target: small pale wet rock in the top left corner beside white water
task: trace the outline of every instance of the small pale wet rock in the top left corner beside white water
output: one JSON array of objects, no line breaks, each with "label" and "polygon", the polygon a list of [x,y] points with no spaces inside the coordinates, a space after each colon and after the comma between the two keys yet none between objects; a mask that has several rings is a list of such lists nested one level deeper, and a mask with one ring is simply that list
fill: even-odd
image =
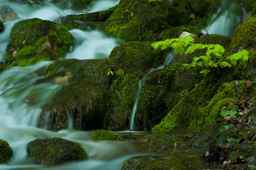
[{"label": "small pale wet rock in the top left corner beside white water", "polygon": [[9,6],[1,6],[0,7],[0,21],[8,22],[18,19],[18,15],[12,8]]}]

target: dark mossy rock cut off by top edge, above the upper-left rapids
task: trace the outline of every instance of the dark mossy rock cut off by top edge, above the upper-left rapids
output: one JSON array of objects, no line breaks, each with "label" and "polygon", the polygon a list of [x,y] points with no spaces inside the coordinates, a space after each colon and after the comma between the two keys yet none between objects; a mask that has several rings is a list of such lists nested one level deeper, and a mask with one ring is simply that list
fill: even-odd
[{"label": "dark mossy rock cut off by top edge, above the upper-left rapids", "polygon": [[61,0],[53,0],[51,1],[52,4],[55,6],[67,9],[72,8],[74,11],[84,10],[90,8],[92,4],[94,4],[94,0],[68,0],[68,1],[61,1]]}]

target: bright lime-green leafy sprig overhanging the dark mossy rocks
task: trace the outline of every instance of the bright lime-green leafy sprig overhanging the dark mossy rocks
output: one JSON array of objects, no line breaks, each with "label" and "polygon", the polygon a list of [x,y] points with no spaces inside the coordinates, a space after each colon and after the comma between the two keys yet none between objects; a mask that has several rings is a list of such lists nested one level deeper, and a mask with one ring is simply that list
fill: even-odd
[{"label": "bright lime-green leafy sprig overhanging the dark mossy rocks", "polygon": [[[189,46],[189,47],[188,47]],[[187,55],[189,53],[193,53],[195,50],[204,49],[206,48],[206,54],[201,55],[199,57],[194,57],[193,62],[190,64],[183,64],[183,66],[190,68],[190,67],[206,67],[207,69],[202,70],[201,74],[208,74],[208,72],[211,72],[211,68],[214,67],[232,67],[235,66],[238,61],[241,63],[245,63],[248,60],[248,54],[249,52],[247,50],[242,50],[240,52],[237,52],[231,56],[228,56],[225,58],[225,60],[221,60],[223,53],[225,52],[225,49],[218,44],[195,44],[194,38],[191,38],[190,36],[187,36],[184,38],[184,40],[173,38],[173,39],[167,39],[165,41],[159,41],[152,43],[152,47],[155,49],[161,48],[161,50],[165,50],[169,47],[172,47],[174,49],[175,55]],[[185,51],[185,47],[187,47],[187,50]],[[214,57],[214,60],[212,60],[212,57]]]}]

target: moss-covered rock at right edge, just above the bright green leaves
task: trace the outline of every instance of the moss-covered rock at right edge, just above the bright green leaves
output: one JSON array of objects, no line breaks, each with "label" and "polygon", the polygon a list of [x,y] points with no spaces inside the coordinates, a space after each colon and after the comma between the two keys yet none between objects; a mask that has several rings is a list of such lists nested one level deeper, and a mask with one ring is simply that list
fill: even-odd
[{"label": "moss-covered rock at right edge, just above the bright green leaves", "polygon": [[256,50],[256,16],[242,23],[232,35],[232,40],[224,55],[233,55],[241,50]]}]

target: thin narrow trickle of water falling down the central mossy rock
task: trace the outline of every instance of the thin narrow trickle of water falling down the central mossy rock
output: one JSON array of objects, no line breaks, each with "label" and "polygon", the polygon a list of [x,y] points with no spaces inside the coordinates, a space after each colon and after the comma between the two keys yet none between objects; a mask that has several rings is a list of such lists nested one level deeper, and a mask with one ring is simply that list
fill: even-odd
[{"label": "thin narrow trickle of water falling down the central mossy rock", "polygon": [[145,77],[148,77],[148,75],[150,75],[152,72],[155,72],[155,71],[158,71],[160,69],[164,69],[166,65],[169,64],[169,62],[172,61],[174,57],[174,52],[169,52],[169,54],[167,55],[167,57],[165,58],[165,62],[164,64],[160,65],[159,67],[157,68],[152,68],[150,69],[150,71],[148,71],[145,76],[143,77],[143,79],[140,79],[139,81],[139,84],[138,84],[138,87],[137,87],[137,90],[136,90],[136,95],[135,95],[135,102],[134,102],[134,105],[133,105],[133,109],[132,109],[132,114],[131,114],[131,117],[130,117],[130,130],[134,130],[135,127],[134,127],[134,120],[135,120],[135,113],[136,113],[136,110],[137,110],[137,104],[138,104],[138,99],[140,97],[140,91],[141,91],[141,87],[143,86],[143,83],[145,81]]}]

